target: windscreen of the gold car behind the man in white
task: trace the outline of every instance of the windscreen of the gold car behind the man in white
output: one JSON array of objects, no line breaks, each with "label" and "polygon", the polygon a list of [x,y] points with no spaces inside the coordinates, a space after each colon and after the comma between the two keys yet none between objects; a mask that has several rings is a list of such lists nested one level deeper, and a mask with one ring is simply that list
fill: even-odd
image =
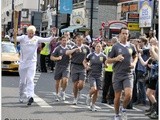
[{"label": "windscreen of the gold car behind the man in white", "polygon": [[17,53],[16,48],[13,44],[2,44],[3,53]]}]

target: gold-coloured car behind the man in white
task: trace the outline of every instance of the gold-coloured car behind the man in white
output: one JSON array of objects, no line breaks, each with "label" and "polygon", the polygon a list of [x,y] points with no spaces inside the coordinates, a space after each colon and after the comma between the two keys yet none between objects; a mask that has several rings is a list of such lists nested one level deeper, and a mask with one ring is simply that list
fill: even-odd
[{"label": "gold-coloured car behind the man in white", "polygon": [[11,42],[1,42],[1,68],[2,72],[18,72],[19,53]]}]

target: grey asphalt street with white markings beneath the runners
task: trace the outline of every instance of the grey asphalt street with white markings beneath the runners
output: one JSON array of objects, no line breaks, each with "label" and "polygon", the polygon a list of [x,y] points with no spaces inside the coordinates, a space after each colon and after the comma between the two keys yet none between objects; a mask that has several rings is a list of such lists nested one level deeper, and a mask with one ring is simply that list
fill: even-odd
[{"label": "grey asphalt street with white markings beneath the runners", "polygon": [[[53,73],[36,73],[35,98],[31,106],[26,102],[19,103],[19,76],[2,76],[2,120],[112,120],[114,114],[113,105],[101,103],[101,92],[97,100],[98,111],[92,112],[85,104],[89,84],[86,83],[81,91],[77,105],[72,105],[72,83],[69,81],[66,90],[66,101],[56,102],[55,81]],[[148,107],[134,106],[128,111],[128,120],[149,120],[144,115]]]}]

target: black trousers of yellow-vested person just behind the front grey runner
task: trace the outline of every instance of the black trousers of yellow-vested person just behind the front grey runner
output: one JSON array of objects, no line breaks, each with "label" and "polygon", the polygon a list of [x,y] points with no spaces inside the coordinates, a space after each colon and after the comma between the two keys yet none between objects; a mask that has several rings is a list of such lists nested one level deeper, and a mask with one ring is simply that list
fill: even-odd
[{"label": "black trousers of yellow-vested person just behind the front grey runner", "polygon": [[114,100],[114,90],[112,85],[112,72],[105,71],[103,81],[103,100]]}]

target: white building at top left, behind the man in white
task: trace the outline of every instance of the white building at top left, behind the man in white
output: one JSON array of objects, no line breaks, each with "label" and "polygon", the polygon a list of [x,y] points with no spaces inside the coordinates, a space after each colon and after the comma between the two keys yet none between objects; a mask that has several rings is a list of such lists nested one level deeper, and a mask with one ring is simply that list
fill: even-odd
[{"label": "white building at top left, behind the man in white", "polygon": [[[20,27],[30,25],[31,23],[31,11],[38,11],[42,0],[2,0],[1,1],[1,27],[4,34],[8,24],[12,23],[12,5],[14,3],[14,10],[21,11]],[[11,28],[8,28],[11,29]]]}]

